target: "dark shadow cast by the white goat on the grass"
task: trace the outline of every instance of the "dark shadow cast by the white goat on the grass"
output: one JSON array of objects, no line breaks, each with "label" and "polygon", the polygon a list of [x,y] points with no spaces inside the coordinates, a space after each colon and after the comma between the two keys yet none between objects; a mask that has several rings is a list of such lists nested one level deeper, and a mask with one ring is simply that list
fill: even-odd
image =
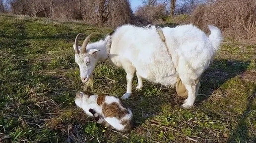
[{"label": "dark shadow cast by the white goat on the grass", "polygon": [[[214,61],[202,75],[201,88],[199,89],[199,95],[195,104],[201,104],[203,101],[206,101],[219,86],[235,76],[243,74],[249,64],[250,62],[243,61]],[[126,73],[123,72],[124,70],[122,70],[122,78],[119,79],[119,82],[124,86],[121,90],[125,93]],[[133,77],[133,81],[137,82],[136,76]],[[136,124],[137,126],[144,123],[149,117],[162,112],[163,106],[181,106],[185,100],[177,96],[175,89],[163,87],[160,84],[153,84],[146,80],[143,81],[143,86],[140,91],[135,90],[133,87],[131,97],[125,100],[133,112],[134,120],[139,123]]]}]

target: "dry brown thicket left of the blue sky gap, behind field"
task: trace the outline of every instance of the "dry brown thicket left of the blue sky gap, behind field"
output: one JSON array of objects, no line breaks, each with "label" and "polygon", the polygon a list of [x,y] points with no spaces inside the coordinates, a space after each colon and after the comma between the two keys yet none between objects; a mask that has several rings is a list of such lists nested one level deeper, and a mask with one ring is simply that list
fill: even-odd
[{"label": "dry brown thicket left of the blue sky gap, behind field", "polygon": [[[51,2],[53,8],[49,8]],[[13,14],[45,18],[53,15],[54,20],[82,20],[93,25],[119,26],[129,23],[132,15],[128,0],[13,0],[11,3]]]}]

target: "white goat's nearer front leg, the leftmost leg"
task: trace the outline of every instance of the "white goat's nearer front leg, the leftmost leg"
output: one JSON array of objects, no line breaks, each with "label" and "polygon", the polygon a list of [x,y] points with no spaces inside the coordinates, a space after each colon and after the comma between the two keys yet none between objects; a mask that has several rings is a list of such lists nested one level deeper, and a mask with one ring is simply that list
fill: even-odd
[{"label": "white goat's nearer front leg, the leftmost leg", "polygon": [[127,80],[127,91],[126,93],[121,97],[122,99],[128,99],[131,95],[131,87],[132,87],[132,78],[133,78],[133,74],[134,74],[134,67],[130,66],[126,66],[124,67],[124,69],[126,70],[126,80]]}]

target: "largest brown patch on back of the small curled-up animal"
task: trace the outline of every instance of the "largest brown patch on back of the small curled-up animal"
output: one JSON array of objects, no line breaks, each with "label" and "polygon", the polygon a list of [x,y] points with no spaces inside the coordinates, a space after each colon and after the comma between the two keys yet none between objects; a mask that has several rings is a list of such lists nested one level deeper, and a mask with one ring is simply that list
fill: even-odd
[{"label": "largest brown patch on back of the small curled-up animal", "polygon": [[103,114],[106,117],[116,117],[122,119],[126,114],[129,113],[128,109],[123,109],[116,102],[111,104],[104,103],[102,106]]}]

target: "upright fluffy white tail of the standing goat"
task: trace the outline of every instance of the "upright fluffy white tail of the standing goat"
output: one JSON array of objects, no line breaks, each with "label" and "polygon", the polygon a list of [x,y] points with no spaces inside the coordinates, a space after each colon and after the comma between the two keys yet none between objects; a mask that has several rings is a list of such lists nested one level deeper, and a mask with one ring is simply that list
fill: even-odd
[{"label": "upright fluffy white tail of the standing goat", "polygon": [[215,51],[217,51],[219,49],[219,46],[223,40],[223,36],[221,34],[220,29],[218,29],[217,27],[213,26],[213,25],[208,25],[210,31],[211,31],[211,35],[209,36],[210,42],[213,46],[213,48],[215,49]]}]

